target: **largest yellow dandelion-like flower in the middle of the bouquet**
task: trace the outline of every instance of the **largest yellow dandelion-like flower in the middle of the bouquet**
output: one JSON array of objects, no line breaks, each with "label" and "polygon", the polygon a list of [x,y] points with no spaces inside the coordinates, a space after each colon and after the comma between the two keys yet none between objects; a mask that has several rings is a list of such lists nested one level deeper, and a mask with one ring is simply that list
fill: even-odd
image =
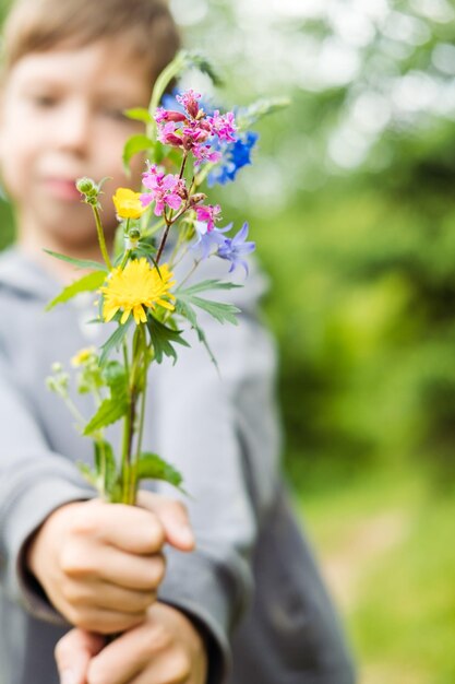
[{"label": "largest yellow dandelion-like flower in the middle of the bouquet", "polygon": [[123,311],[121,323],[125,323],[132,314],[139,326],[146,322],[147,308],[155,309],[159,305],[172,311],[175,307],[169,302],[176,298],[169,292],[176,284],[172,278],[167,263],[159,267],[158,273],[144,257],[129,261],[124,269],[112,269],[106,285],[100,288],[104,294],[103,318],[109,321],[117,311]]}]

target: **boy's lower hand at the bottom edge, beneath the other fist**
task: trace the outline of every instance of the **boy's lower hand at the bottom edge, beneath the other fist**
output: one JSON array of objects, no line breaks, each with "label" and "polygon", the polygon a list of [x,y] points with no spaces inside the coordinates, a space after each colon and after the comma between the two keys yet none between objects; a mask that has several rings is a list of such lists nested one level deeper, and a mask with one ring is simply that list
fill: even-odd
[{"label": "boy's lower hand at the bottom edge, beneath the other fist", "polygon": [[56,648],[61,684],[204,684],[204,641],[180,611],[155,603],[147,620],[104,647],[95,634],[72,629]]}]

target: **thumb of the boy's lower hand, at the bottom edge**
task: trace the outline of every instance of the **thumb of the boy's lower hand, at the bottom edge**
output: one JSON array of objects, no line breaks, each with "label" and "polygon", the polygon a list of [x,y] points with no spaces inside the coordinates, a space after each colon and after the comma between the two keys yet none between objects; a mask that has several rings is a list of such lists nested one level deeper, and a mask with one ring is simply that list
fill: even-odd
[{"label": "thumb of the boy's lower hand, at the bottom edge", "polygon": [[105,638],[92,632],[71,629],[55,650],[60,684],[86,684],[88,665],[105,646]]}]

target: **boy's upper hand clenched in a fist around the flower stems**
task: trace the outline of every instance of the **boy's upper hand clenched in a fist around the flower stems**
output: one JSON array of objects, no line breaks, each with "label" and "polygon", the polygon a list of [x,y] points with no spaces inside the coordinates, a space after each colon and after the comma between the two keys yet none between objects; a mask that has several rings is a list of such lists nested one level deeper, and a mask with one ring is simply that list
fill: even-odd
[{"label": "boy's upper hand clenched in a fist around the flower stems", "polygon": [[139,625],[165,574],[165,541],[192,550],[181,504],[148,492],[139,504],[67,504],[33,539],[28,568],[71,624],[100,634]]}]

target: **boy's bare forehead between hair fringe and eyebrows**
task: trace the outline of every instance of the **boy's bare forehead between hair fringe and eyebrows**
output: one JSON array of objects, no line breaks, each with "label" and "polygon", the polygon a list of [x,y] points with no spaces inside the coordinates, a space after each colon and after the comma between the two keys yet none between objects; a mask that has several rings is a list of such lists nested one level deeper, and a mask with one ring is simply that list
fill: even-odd
[{"label": "boy's bare forehead between hair fringe and eyebrows", "polygon": [[10,74],[24,85],[48,83],[84,85],[87,90],[116,93],[122,91],[140,98],[148,97],[148,70],[134,50],[120,39],[105,39],[86,46],[59,45],[21,58]]}]

